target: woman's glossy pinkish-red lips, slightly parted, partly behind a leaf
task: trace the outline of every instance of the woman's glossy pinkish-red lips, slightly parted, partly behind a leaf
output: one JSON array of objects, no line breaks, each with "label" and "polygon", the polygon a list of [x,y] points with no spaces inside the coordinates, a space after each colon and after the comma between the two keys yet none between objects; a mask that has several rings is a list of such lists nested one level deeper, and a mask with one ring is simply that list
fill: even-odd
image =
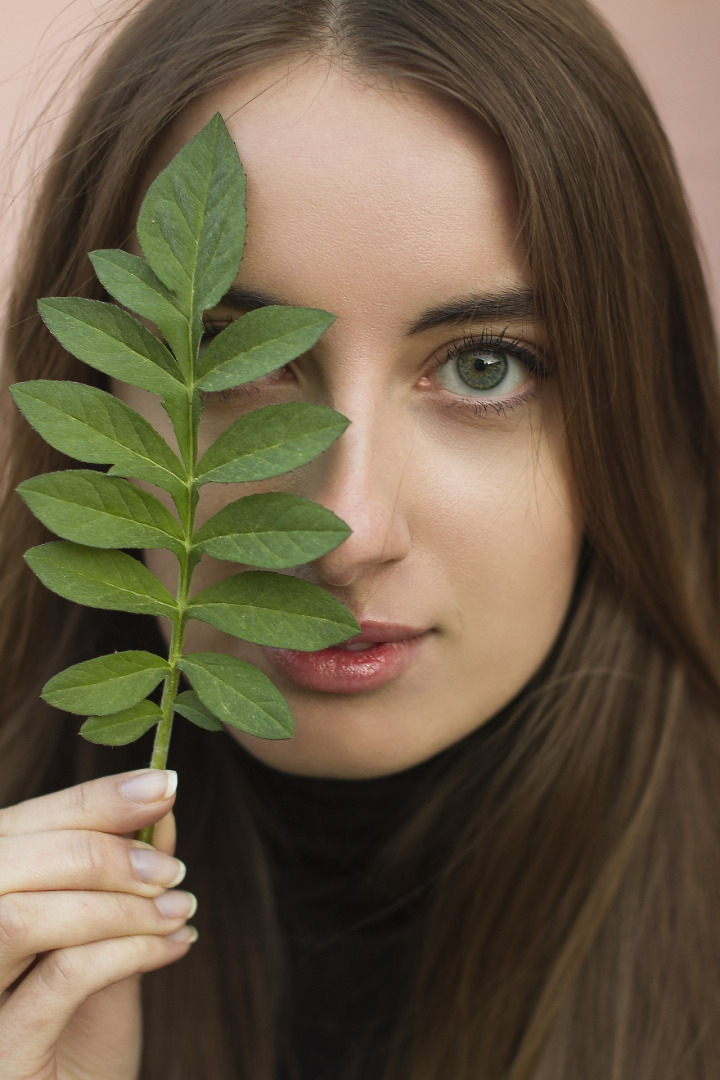
[{"label": "woman's glossy pinkish-red lips, slightly parted, partly behind a leaf", "polygon": [[282,678],[321,693],[364,693],[398,678],[422,651],[432,631],[399,623],[361,621],[361,632],[344,645],[370,646],[351,652],[330,646],[316,652],[262,646],[262,654]]}]

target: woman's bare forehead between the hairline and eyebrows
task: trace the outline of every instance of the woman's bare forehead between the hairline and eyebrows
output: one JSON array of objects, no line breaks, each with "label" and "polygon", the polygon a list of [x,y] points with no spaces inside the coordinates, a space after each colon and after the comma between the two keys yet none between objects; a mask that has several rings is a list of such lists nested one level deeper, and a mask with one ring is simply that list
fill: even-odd
[{"label": "woman's bare forehead between the hairline and eyebrows", "polygon": [[337,311],[343,289],[380,286],[390,300],[403,283],[427,293],[422,303],[437,288],[528,279],[506,151],[460,105],[317,58],[283,63],[194,103],[153,173],[217,111],[248,175],[242,278],[270,284],[297,268],[307,289],[286,302]]}]

